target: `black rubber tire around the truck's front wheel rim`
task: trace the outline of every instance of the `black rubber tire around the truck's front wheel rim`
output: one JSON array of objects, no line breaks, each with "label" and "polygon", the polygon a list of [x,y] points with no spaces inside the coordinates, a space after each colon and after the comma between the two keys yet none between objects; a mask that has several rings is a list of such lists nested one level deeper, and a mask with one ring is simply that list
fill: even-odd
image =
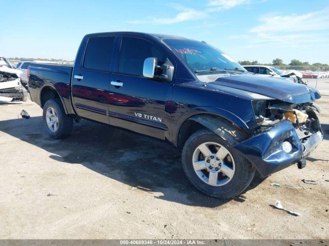
[{"label": "black rubber tire around the truck's front wheel rim", "polygon": [[[205,142],[216,142],[224,146],[234,159],[234,175],[232,179],[223,186],[209,185],[200,179],[194,171],[192,163],[193,153],[199,145]],[[181,158],[184,172],[192,185],[206,195],[216,198],[229,199],[239,195],[250,185],[255,174],[255,168],[246,158],[231,147],[226,140],[208,129],[197,131],[188,138],[182,150]]]}]

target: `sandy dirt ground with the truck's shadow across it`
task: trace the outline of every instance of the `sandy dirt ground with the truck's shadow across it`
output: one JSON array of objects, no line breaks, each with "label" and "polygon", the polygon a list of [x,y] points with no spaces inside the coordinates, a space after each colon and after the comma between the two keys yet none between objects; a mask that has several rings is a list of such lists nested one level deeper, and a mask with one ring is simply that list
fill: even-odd
[{"label": "sandy dirt ground with the truck's shadow across it", "polygon": [[[53,140],[39,106],[0,105],[0,238],[328,238],[326,88],[318,102],[324,140],[306,168],[256,176],[230,201],[194,189],[165,142],[85,120],[70,137]],[[30,119],[17,117],[22,109]],[[302,215],[273,208],[276,200]]]}]

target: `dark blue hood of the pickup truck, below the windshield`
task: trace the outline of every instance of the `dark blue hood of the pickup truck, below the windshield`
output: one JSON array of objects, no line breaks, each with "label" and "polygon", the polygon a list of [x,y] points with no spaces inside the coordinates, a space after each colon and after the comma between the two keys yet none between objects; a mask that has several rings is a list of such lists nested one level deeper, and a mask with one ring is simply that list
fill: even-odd
[{"label": "dark blue hood of the pickup truck, below the windshield", "polygon": [[210,78],[208,75],[201,75],[198,76],[198,79],[212,85],[250,91],[293,104],[308,103],[321,97],[320,93],[315,88],[291,83],[277,77],[261,77],[252,74],[223,76],[223,74],[221,74],[217,77],[211,75],[212,79],[206,81],[207,78],[203,76],[207,76],[208,79]]}]

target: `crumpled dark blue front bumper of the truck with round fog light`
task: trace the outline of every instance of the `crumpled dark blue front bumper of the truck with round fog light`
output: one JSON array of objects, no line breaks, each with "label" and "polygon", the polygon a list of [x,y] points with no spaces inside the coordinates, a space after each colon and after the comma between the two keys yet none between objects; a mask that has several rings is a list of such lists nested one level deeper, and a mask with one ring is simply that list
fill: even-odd
[{"label": "crumpled dark blue front bumper of the truck with round fog light", "polygon": [[[323,138],[321,128],[319,129],[302,142],[294,125],[285,120],[268,131],[261,132],[233,147],[253,163],[259,173],[265,177],[309,155]],[[284,141],[288,141],[292,146],[289,153],[283,149]]]}]

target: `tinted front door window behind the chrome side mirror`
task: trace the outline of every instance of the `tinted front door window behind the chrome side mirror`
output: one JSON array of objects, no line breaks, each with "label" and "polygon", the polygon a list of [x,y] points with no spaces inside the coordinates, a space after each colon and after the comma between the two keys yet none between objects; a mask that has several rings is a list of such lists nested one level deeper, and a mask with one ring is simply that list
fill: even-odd
[{"label": "tinted front door window behind the chrome side mirror", "polygon": [[123,37],[120,50],[119,73],[141,76],[144,60],[156,57],[158,65],[165,63],[166,56],[150,42],[134,37]]}]

